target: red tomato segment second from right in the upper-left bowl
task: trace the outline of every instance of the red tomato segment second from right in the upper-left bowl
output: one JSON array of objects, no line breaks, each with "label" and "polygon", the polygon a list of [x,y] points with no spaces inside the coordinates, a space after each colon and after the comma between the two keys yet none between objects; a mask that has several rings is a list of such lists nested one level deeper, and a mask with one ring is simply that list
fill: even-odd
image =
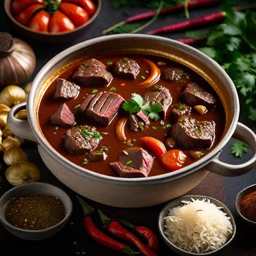
[{"label": "red tomato segment second from right in the upper-left bowl", "polygon": [[76,27],[81,26],[89,19],[88,13],[76,4],[61,3],[60,11],[67,15]]}]

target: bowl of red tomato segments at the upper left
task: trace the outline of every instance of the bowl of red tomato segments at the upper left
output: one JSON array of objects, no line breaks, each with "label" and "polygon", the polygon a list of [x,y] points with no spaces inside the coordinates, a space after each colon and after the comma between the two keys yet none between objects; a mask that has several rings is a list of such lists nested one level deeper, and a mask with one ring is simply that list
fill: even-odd
[{"label": "bowl of red tomato segments at the upper left", "polygon": [[6,0],[4,10],[22,35],[62,44],[83,35],[99,15],[101,0]]}]

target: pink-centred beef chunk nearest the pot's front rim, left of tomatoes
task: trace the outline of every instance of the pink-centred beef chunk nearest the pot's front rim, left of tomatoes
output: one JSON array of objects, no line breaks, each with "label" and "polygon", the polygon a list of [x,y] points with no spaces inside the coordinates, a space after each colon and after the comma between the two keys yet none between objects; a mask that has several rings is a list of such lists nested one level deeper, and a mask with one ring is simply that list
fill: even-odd
[{"label": "pink-centred beef chunk nearest the pot's front rim, left of tomatoes", "polygon": [[110,163],[120,177],[148,177],[153,157],[143,148],[127,148],[118,156],[118,162]]}]

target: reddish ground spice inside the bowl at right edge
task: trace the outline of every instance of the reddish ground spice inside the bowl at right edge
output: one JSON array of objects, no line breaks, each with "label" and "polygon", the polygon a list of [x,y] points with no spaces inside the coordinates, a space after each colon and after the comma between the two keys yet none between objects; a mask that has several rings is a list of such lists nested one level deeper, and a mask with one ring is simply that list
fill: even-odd
[{"label": "reddish ground spice inside the bowl at right edge", "polygon": [[239,202],[241,214],[251,221],[256,221],[256,191],[243,196]]}]

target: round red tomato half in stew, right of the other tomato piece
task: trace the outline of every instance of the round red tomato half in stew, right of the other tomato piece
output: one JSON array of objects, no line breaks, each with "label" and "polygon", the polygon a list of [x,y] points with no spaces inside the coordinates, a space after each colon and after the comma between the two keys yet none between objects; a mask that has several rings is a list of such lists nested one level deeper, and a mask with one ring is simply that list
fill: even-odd
[{"label": "round red tomato half in stew, right of the other tomato piece", "polygon": [[162,157],[162,163],[168,171],[175,171],[182,168],[187,156],[179,149],[167,151]]}]

